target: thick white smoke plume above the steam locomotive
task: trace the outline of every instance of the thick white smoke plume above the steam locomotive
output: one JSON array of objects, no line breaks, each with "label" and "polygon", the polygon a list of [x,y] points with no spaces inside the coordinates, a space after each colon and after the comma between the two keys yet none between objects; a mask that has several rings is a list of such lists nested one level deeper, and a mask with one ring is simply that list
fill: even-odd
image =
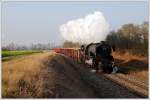
[{"label": "thick white smoke plume above the steam locomotive", "polygon": [[96,11],[84,18],[61,25],[60,32],[67,41],[81,44],[96,43],[105,40],[109,33],[109,23],[102,12]]}]

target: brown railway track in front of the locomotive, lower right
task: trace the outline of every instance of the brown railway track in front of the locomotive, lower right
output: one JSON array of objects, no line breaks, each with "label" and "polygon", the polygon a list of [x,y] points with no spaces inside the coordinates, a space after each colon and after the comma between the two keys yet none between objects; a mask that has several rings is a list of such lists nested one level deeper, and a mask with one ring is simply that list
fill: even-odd
[{"label": "brown railway track in front of the locomotive, lower right", "polygon": [[148,97],[148,85],[139,80],[127,77],[123,74],[103,74],[106,78],[116,82],[117,84],[129,89],[142,97]]}]

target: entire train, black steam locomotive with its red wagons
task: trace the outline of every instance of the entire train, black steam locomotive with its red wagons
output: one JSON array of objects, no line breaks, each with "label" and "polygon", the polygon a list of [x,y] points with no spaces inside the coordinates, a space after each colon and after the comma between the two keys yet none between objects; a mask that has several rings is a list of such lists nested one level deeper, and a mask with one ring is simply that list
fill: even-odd
[{"label": "entire train, black steam locomotive with its red wagons", "polygon": [[[106,73],[115,73],[117,71],[113,56],[111,55],[112,50],[115,51],[115,49],[114,47],[105,44],[105,42],[102,42],[102,44],[91,43],[86,46],[82,45],[81,48],[54,48],[53,50],[56,53],[69,56],[79,63],[88,64],[96,71],[99,70],[99,68]],[[105,57],[102,57],[103,55]]]}]

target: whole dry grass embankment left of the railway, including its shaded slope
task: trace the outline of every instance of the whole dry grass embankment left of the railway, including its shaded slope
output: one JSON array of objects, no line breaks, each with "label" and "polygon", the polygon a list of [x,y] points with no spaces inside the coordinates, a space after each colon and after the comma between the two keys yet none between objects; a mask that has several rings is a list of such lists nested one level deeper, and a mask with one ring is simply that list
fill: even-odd
[{"label": "whole dry grass embankment left of the railway, including its shaded slope", "polygon": [[95,97],[62,56],[41,53],[2,63],[3,98]]}]

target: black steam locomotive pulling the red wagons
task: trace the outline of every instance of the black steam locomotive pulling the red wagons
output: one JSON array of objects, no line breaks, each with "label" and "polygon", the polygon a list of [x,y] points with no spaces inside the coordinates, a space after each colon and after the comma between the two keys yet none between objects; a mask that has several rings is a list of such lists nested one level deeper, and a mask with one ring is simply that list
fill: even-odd
[{"label": "black steam locomotive pulling the red wagons", "polygon": [[81,52],[85,55],[85,63],[92,65],[96,71],[102,69],[105,73],[117,71],[112,51],[115,51],[115,46],[108,44],[106,41],[81,46]]}]

